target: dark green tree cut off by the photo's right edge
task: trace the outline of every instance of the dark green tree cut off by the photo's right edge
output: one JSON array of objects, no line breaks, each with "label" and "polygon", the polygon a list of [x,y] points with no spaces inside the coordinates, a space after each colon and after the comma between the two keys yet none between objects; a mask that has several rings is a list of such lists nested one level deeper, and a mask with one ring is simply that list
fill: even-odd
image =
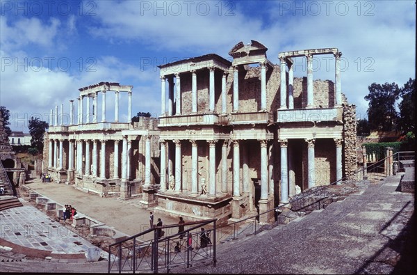
[{"label": "dark green tree cut off by the photo's right edge", "polygon": [[402,102],[398,104],[400,109],[400,117],[398,118],[398,130],[402,133],[414,132],[416,121],[416,81],[409,79],[400,89]]}]

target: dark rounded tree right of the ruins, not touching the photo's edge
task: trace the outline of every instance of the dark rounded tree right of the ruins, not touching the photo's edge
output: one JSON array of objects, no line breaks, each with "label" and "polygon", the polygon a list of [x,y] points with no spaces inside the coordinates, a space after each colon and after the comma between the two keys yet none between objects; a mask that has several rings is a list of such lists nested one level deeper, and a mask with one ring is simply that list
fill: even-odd
[{"label": "dark rounded tree right of the ruins, not touching the photo's edge", "polygon": [[370,129],[391,131],[395,129],[398,113],[395,101],[400,96],[400,88],[395,83],[370,84],[369,94],[365,100],[369,101],[368,120]]}]

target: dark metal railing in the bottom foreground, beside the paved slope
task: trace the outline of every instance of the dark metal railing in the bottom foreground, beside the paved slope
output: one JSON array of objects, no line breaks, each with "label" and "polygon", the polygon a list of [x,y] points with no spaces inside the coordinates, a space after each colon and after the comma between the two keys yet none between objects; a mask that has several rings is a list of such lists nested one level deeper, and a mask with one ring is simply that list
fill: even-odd
[{"label": "dark metal railing in the bottom foreground, beside the paved slope", "polygon": [[[176,234],[161,234],[178,228],[178,224],[154,226],[120,242],[108,246],[108,273],[111,272],[153,272],[160,269],[169,273],[173,267],[213,259],[215,265],[215,242],[211,242],[210,235],[216,239],[215,222],[217,219],[183,223],[187,229]],[[211,229],[202,230],[203,226]],[[200,230],[198,230],[200,229]],[[149,233],[153,237],[141,240]],[[163,235],[159,237],[159,235]],[[205,237],[207,236],[207,237]]]}]

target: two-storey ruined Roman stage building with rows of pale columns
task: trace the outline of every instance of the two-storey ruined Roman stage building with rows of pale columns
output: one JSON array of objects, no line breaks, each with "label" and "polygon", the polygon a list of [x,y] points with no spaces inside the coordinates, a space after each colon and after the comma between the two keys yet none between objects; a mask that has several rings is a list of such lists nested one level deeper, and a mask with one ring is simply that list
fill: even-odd
[{"label": "two-storey ruined Roman stage building with rows of pale columns", "polygon": [[[131,118],[132,86],[81,88],[77,123],[72,100],[69,125],[62,105],[58,123],[56,107],[45,139],[49,172],[102,196],[142,196],[145,206],[158,204],[156,212],[222,221],[265,212],[300,190],[350,175],[357,168],[356,120],[341,93],[341,52],[281,52],[275,65],[267,50],[252,40],[231,49],[232,62],[206,54],[160,65],[159,120],[118,121],[121,91],[129,93]],[[313,81],[317,54],[334,56],[334,82]],[[300,57],[307,75],[295,78],[293,59]],[[106,121],[108,91],[115,91],[114,122]]]}]

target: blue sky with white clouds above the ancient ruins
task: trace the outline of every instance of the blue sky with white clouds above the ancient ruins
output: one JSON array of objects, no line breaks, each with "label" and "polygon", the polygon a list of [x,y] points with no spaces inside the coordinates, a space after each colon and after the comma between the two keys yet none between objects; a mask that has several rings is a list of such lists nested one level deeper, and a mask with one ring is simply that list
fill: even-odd
[{"label": "blue sky with white clouds above the ancient ruins", "polygon": [[[415,1],[0,1],[0,105],[13,130],[49,121],[50,109],[100,81],[133,85],[133,114],[161,109],[157,65],[227,54],[257,40],[279,52],[337,47],[342,91],[366,117],[368,86],[415,76]],[[334,59],[317,56],[314,79],[334,80]],[[306,76],[305,58],[295,77]],[[99,101],[100,102],[100,101]],[[107,116],[114,116],[108,95]],[[120,97],[120,120],[127,95]]]}]

